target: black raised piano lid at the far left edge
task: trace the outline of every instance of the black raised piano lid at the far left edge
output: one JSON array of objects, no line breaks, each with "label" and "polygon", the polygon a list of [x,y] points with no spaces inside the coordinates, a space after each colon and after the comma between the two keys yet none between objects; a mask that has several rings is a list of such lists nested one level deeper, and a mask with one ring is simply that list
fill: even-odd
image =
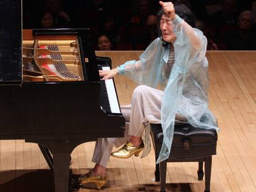
[{"label": "black raised piano lid at the far left edge", "polygon": [[22,81],[22,1],[0,1],[0,83]]}]

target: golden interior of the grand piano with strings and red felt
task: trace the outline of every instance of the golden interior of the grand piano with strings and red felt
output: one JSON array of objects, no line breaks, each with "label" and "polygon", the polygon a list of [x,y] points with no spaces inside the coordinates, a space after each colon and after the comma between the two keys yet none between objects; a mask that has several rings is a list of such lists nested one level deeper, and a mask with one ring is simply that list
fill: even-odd
[{"label": "golden interior of the grand piano with strings and red felt", "polygon": [[83,80],[77,40],[34,40],[24,44],[24,81]]}]

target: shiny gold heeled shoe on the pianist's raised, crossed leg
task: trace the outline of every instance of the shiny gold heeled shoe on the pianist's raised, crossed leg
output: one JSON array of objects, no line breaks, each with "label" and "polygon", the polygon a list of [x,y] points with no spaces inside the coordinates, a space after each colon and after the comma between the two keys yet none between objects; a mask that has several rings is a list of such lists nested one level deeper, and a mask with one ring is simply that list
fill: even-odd
[{"label": "shiny gold heeled shoe on the pianist's raised, crossed leg", "polygon": [[115,152],[111,152],[111,156],[126,159],[131,157],[132,155],[138,157],[140,154],[140,151],[142,151],[144,148],[144,143],[140,143],[139,146],[134,146],[130,141],[127,141],[122,148],[118,149]]}]

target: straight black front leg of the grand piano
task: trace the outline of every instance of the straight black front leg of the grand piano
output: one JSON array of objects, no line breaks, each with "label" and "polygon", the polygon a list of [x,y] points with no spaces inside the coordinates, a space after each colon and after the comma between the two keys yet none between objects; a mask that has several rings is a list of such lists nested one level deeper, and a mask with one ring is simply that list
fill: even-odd
[{"label": "straight black front leg of the grand piano", "polygon": [[56,192],[69,191],[69,160],[70,154],[53,154]]}]

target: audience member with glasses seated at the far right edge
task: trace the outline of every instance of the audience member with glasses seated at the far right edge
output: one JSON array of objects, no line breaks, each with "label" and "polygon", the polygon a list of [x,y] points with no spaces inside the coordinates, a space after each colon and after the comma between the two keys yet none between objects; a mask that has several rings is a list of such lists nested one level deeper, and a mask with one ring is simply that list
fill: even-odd
[{"label": "audience member with glasses seated at the far right edge", "polygon": [[226,35],[226,46],[231,50],[256,50],[254,19],[250,10],[245,10],[238,17],[237,30]]}]

